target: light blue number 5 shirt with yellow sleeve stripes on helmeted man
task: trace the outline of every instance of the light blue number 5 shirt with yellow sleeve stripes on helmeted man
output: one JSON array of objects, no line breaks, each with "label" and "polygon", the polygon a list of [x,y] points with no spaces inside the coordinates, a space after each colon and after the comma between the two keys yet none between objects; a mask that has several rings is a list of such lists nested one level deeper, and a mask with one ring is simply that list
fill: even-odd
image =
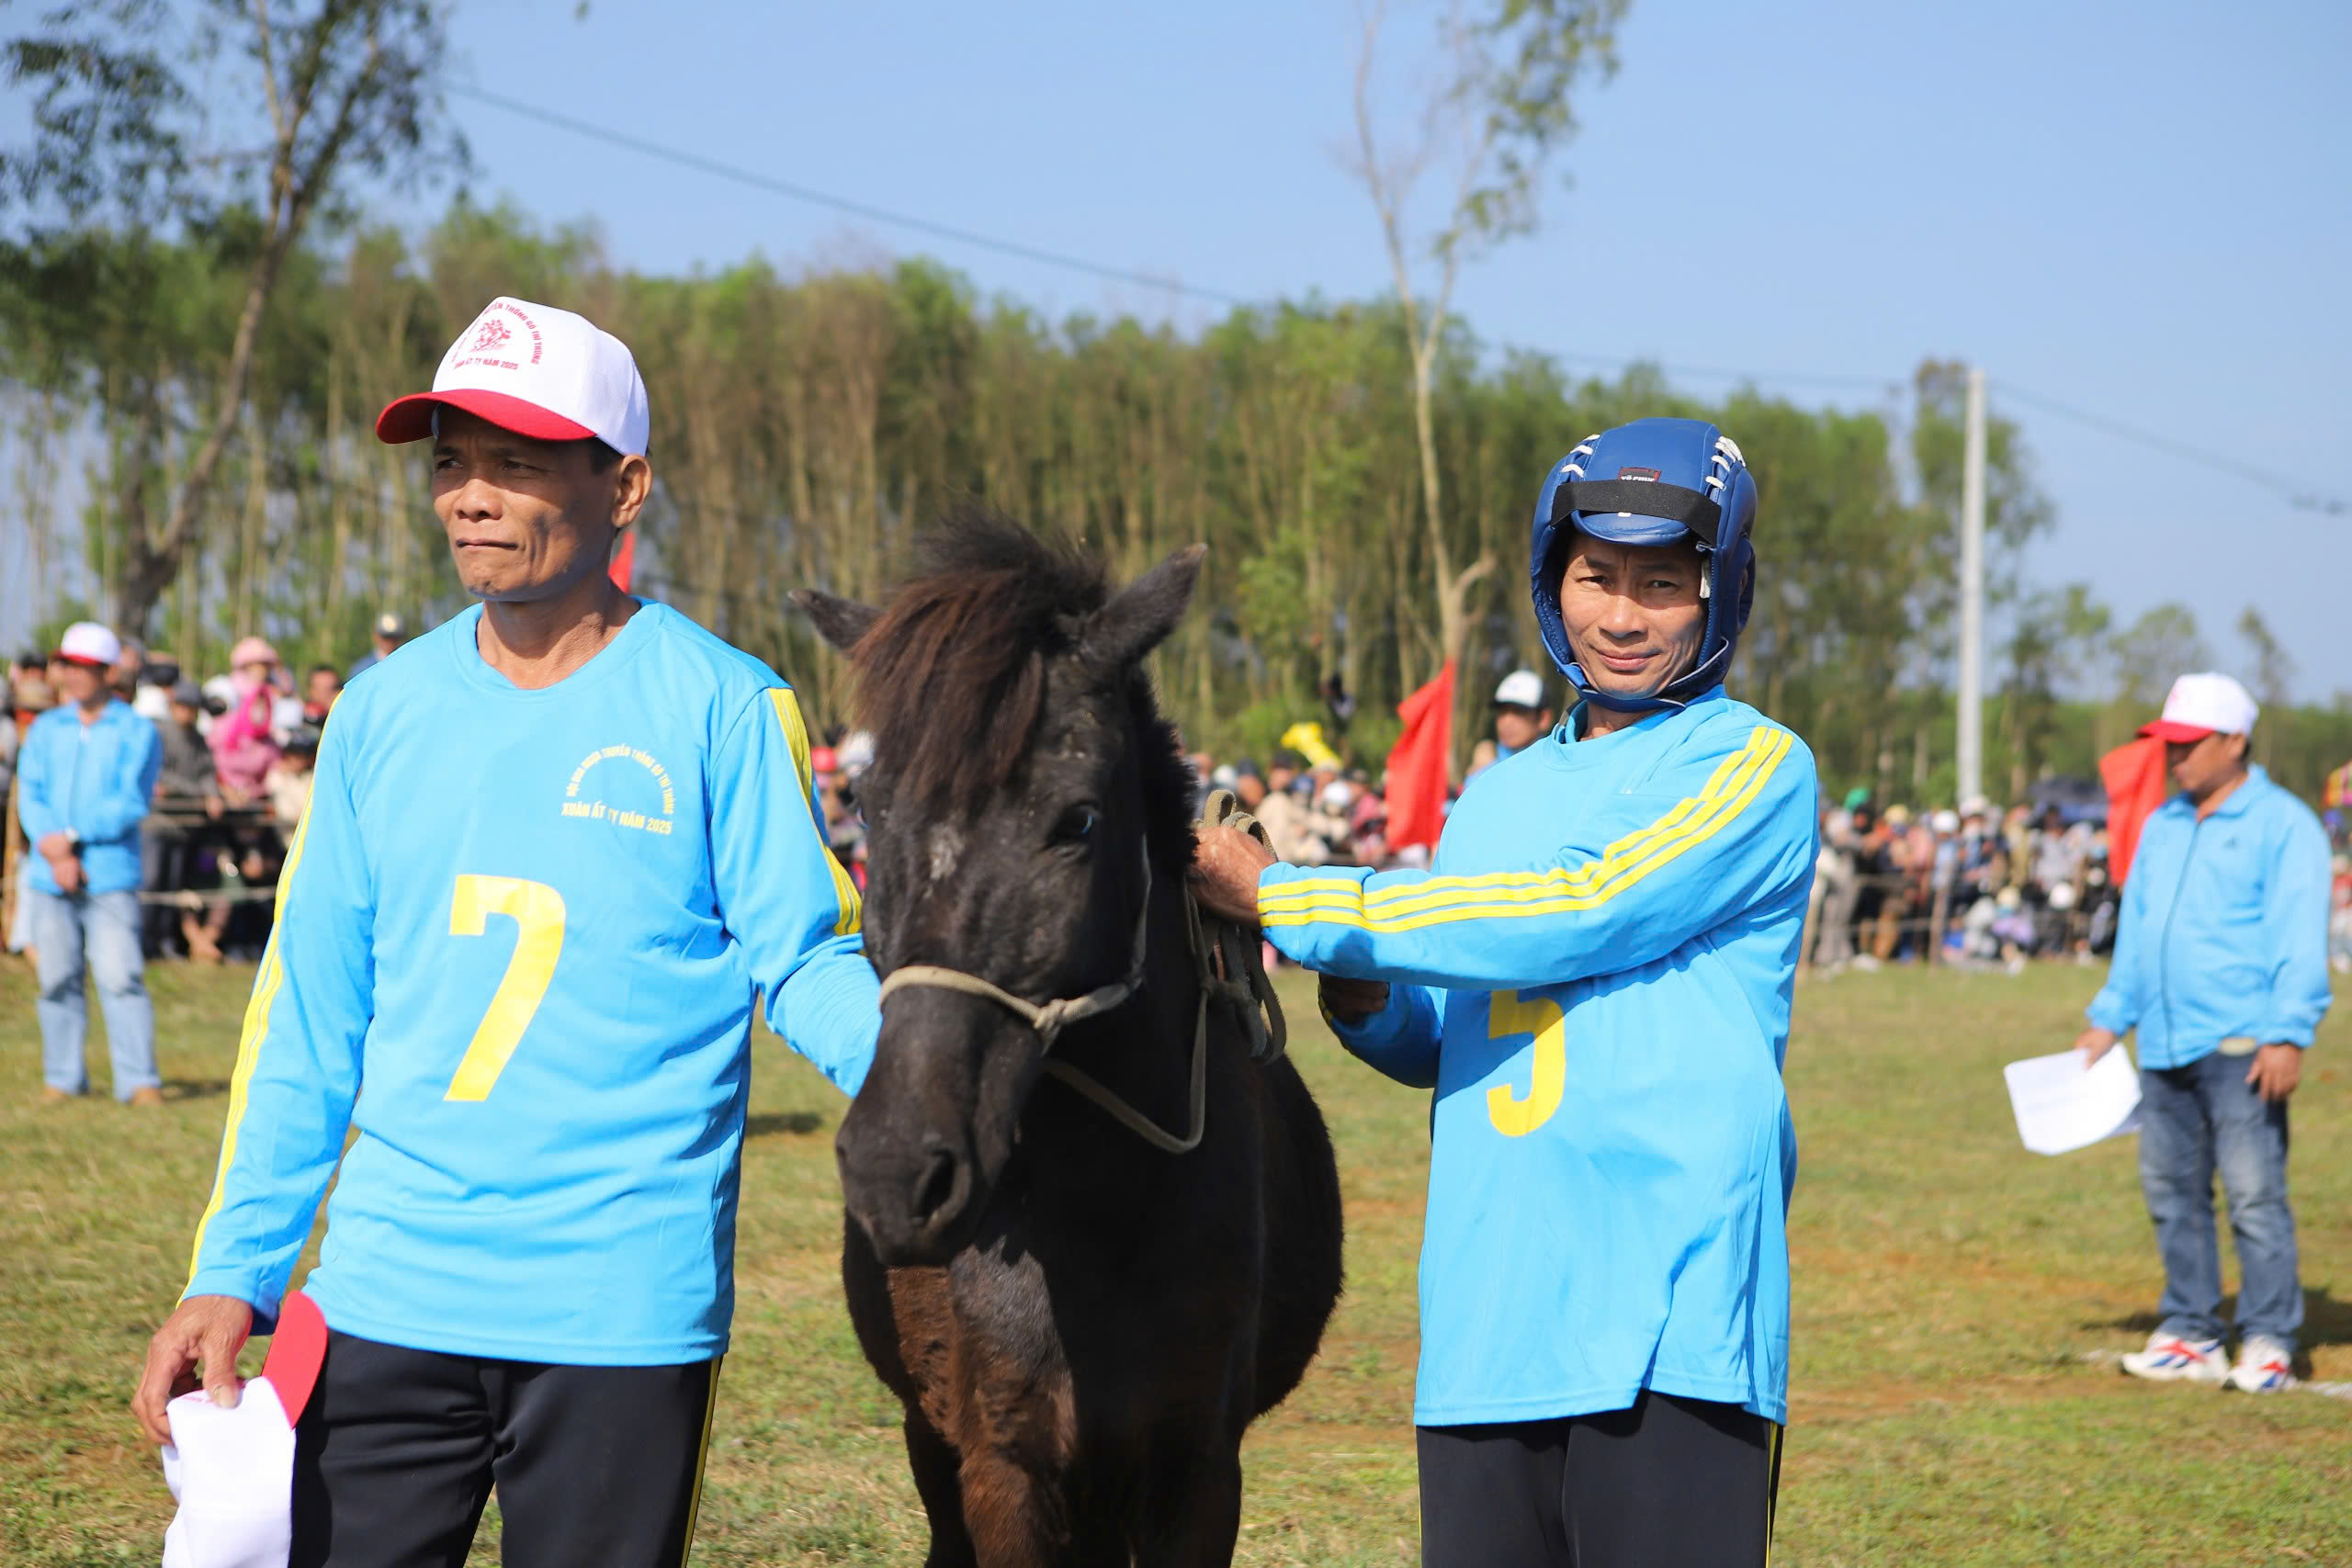
[{"label": "light blue number 5 shirt with yellow sleeve stripes on helmeted man", "polygon": [[1437,1091],[1414,1420],[1785,1420],[1813,757],[1719,689],[1569,733],[1470,780],[1428,872],[1258,884],[1287,957],[1390,983],[1341,1041]]}]

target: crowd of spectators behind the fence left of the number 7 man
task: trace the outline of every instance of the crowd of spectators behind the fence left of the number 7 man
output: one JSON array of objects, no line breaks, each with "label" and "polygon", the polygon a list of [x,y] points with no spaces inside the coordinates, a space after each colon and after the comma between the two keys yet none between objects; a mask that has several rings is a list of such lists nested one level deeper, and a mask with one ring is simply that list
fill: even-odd
[{"label": "crowd of spectators behind the fence left of the number 7 man", "polygon": [[[106,672],[115,696],[155,724],[162,771],[141,825],[141,947],[148,959],[219,964],[256,957],[268,940],[270,891],[294,827],[310,804],[320,729],[343,684],[407,637],[400,616],[381,616],[372,649],[350,670],[313,665],[299,677],[263,637],[242,637],[228,670],[193,672],[136,642]],[[16,745],[33,719],[59,705],[52,654],[19,654],[7,670],[7,724],[0,724],[0,799],[9,799],[9,891],[21,891],[28,844],[12,802]],[[9,898],[9,952],[31,945],[24,898]]]}]

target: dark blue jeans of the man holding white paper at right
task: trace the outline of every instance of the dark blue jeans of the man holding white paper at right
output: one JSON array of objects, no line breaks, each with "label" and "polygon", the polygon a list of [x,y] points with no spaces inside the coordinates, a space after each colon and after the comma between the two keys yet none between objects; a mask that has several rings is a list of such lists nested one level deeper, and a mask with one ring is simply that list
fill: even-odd
[{"label": "dark blue jeans of the man holding white paper at right", "polygon": [[2140,1192],[2164,1253],[2164,1333],[2223,1338],[2213,1171],[2237,1241],[2237,1328],[2296,1347],[2303,1286],[2286,1206],[2286,1105],[2246,1081],[2251,1056],[2220,1051],[2187,1067],[2140,1070]]}]

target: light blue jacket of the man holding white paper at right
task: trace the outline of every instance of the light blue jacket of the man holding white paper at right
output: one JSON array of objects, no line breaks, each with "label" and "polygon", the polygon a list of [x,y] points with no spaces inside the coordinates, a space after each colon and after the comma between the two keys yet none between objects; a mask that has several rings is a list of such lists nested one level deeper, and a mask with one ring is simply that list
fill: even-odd
[{"label": "light blue jacket of the man holding white paper at right", "polygon": [[2328,1011],[2328,835],[2260,766],[2204,820],[2157,806],[2124,877],[2107,985],[2089,1018],[2140,1032],[2143,1067],[2225,1039],[2310,1046]]}]

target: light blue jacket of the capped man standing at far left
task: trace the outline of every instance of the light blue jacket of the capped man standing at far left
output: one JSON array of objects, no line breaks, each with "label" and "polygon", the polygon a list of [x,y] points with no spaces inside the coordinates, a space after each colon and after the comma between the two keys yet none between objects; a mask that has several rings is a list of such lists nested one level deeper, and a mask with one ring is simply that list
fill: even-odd
[{"label": "light blue jacket of the capped man standing at far left", "polygon": [[[153,719],[111,701],[82,724],[82,710],[52,708],[33,719],[16,755],[16,820],[40,844],[71,827],[82,835],[82,886],[92,893],[139,891],[139,823],[162,773],[162,736]],[[33,856],[28,886],[56,893],[49,863]]]}]

